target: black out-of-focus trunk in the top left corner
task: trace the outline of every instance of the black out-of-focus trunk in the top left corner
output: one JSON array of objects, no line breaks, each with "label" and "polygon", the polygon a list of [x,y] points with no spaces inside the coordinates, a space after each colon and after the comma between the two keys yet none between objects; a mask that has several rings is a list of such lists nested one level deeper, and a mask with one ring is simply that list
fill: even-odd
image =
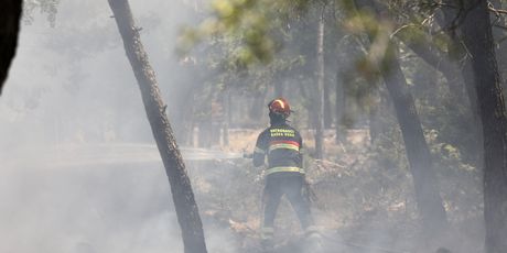
[{"label": "black out-of-focus trunk in the top left corner", "polygon": [[18,46],[22,0],[2,0],[0,3],[0,94]]}]

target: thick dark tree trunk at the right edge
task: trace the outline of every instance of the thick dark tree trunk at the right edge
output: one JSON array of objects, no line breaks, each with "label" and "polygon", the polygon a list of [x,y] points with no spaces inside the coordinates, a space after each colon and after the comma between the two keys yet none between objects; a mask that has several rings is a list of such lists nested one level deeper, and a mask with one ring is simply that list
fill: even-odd
[{"label": "thick dark tree trunk at the right edge", "polygon": [[[472,57],[484,133],[486,252],[507,252],[507,117],[487,1],[465,1],[464,43]],[[472,7],[472,8],[471,8]]]}]

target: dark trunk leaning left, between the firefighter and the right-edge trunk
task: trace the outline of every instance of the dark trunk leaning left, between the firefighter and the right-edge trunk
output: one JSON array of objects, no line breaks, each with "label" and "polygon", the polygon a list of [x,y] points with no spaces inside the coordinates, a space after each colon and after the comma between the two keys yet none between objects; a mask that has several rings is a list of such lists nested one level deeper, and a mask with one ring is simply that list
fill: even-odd
[{"label": "dark trunk leaning left, between the firefighter and the right-edge trunk", "polygon": [[[373,11],[375,15],[380,18],[384,14],[369,0],[356,0],[356,6],[358,10]],[[382,29],[380,28],[380,30]],[[379,31],[375,35],[371,33],[368,35],[370,41],[389,40],[389,31]],[[441,235],[441,232],[446,231],[447,219],[442,205],[442,197],[440,196],[430,148],[424,139],[416,103],[408,90],[407,80],[401,70],[397,54],[397,45],[393,42],[388,42],[386,54],[378,67],[392,99],[396,116],[400,124],[424,234],[428,240],[433,241]]]}]

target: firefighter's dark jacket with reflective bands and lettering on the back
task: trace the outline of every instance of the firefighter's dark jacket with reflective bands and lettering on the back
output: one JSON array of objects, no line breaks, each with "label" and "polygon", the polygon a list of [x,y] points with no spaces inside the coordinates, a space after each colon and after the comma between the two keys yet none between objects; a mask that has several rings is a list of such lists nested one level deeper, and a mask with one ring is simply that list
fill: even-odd
[{"label": "firefighter's dark jacket with reflective bands and lettering on the back", "polygon": [[300,173],[303,170],[300,133],[285,122],[271,124],[257,139],[254,152],[254,166],[262,166],[268,156],[266,175],[278,173]]}]

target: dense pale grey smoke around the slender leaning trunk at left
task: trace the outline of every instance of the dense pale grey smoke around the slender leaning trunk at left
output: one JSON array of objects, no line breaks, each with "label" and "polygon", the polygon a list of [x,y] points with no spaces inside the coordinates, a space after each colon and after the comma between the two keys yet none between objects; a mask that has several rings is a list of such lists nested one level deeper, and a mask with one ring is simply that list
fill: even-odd
[{"label": "dense pale grey smoke around the slender leaning trunk at left", "polygon": [[[174,72],[192,6],[131,4],[170,101],[192,76]],[[0,252],[183,252],[165,172],[142,147],[153,138],[107,1],[61,1],[55,28],[34,14],[0,99]],[[141,147],[93,144],[125,142]],[[227,252],[227,231],[206,237],[211,252]]]}]

